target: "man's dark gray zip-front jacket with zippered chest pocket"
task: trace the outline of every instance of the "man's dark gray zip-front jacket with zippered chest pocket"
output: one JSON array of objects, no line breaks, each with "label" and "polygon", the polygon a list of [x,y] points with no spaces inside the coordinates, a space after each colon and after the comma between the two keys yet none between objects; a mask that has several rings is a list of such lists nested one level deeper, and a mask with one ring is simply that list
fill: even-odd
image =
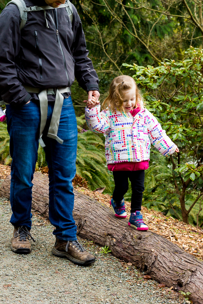
[{"label": "man's dark gray zip-front jacket with zippered chest pocket", "polygon": [[[45,6],[44,0],[25,0],[27,7]],[[75,77],[89,91],[98,89],[98,77],[87,57],[85,35],[76,8],[71,22],[65,7],[27,13],[20,31],[20,13],[9,4],[0,15],[0,94],[4,102],[23,105],[35,88],[71,86]],[[50,95],[51,96],[51,95]],[[1,100],[1,99],[0,99]]]}]

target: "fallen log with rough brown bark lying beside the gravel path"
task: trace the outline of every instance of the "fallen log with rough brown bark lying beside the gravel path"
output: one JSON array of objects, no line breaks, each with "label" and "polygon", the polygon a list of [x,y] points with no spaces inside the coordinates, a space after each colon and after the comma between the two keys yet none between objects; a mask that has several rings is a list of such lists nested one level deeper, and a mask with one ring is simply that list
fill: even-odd
[{"label": "fallen log with rough brown bark lying beside the gravel path", "polygon": [[[0,196],[9,199],[10,176],[1,185]],[[32,207],[48,217],[48,177],[34,174]],[[131,262],[167,287],[190,292],[193,303],[203,304],[203,263],[162,236],[137,231],[127,220],[117,219],[110,208],[74,190],[73,217],[77,234],[111,249],[116,257]],[[88,214],[87,214],[88,210]]]}]

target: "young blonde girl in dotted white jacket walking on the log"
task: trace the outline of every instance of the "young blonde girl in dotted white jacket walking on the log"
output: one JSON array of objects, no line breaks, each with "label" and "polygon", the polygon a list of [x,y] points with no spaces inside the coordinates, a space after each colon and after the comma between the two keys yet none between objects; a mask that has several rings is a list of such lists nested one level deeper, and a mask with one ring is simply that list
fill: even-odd
[{"label": "young blonde girl in dotted white jacket walking on the log", "polygon": [[126,218],[123,196],[131,181],[131,216],[128,225],[137,230],[148,230],[141,214],[145,170],[149,167],[150,145],[162,155],[169,156],[177,146],[166,135],[157,119],[143,106],[140,91],[130,76],[118,76],[111,82],[109,95],[102,104],[87,102],[85,117],[88,128],[104,133],[106,162],[113,171],[115,189],[110,201],[113,213]]}]

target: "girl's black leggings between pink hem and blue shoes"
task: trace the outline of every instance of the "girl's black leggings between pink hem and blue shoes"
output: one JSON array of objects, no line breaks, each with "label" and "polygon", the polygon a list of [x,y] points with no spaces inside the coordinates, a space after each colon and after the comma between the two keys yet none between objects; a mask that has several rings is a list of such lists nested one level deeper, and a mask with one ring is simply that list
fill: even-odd
[{"label": "girl's black leggings between pink hem and blue shoes", "polygon": [[128,177],[131,181],[131,212],[141,211],[142,193],[145,190],[145,170],[138,171],[113,171],[115,189],[113,191],[113,200],[120,202],[123,195],[128,191]]}]

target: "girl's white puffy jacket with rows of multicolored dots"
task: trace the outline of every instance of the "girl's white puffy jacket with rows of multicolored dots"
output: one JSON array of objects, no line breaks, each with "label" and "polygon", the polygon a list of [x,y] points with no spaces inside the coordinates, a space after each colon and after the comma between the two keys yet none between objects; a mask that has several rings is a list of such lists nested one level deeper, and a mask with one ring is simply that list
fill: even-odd
[{"label": "girl's white puffy jacket with rows of multicolored dots", "polygon": [[176,145],[166,135],[157,119],[143,106],[134,117],[131,113],[103,110],[100,105],[85,108],[88,128],[104,133],[106,162],[141,162],[150,159],[151,144],[164,156],[176,150]]}]

